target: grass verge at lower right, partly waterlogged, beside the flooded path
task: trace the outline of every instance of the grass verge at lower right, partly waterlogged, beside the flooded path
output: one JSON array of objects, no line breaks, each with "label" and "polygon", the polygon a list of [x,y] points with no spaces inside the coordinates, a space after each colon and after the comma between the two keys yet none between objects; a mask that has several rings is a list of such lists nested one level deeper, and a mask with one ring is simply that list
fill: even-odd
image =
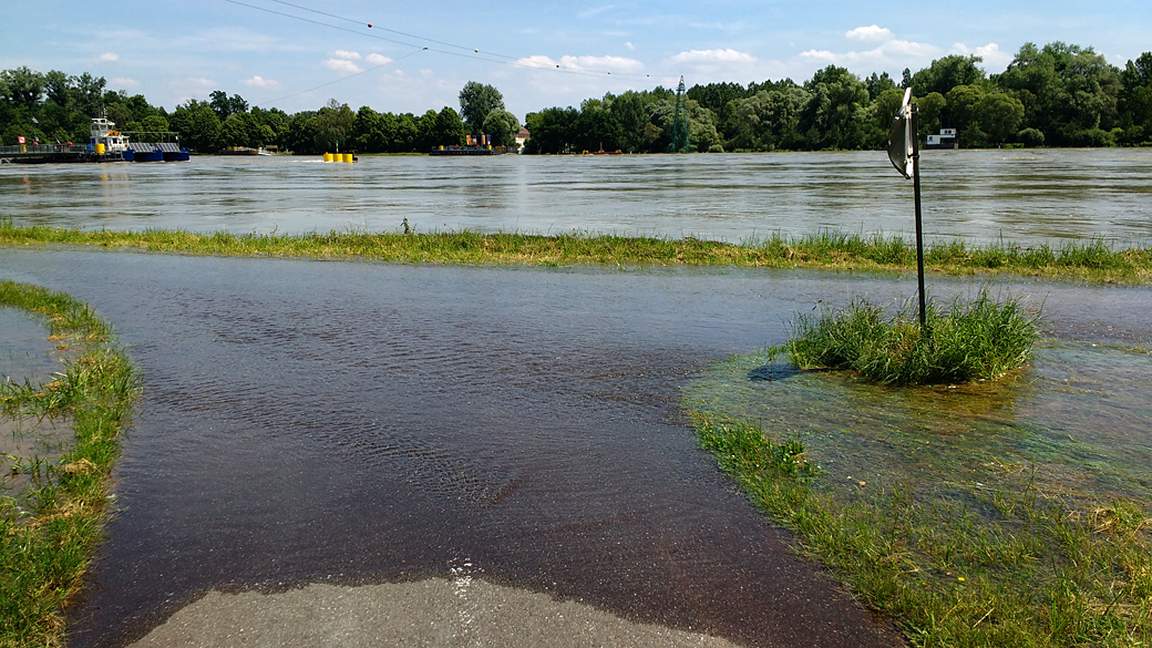
[{"label": "grass verge at lower right, partly waterlogged, beside the flooded path", "polygon": [[1152,641],[1152,541],[1139,503],[1041,492],[1034,467],[934,492],[833,485],[798,439],[690,415],[700,445],[749,499],[914,646]]}]

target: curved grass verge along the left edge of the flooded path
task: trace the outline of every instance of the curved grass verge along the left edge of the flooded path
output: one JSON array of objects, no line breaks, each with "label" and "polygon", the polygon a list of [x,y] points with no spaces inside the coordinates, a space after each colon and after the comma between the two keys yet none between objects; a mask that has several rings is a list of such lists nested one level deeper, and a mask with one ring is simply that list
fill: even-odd
[{"label": "curved grass verge along the left edge of the flooded path", "polygon": [[0,646],[62,646],[62,610],[83,586],[108,508],[108,475],[137,393],[112,329],[83,303],[0,281],[0,304],[43,315],[67,351],[45,384],[0,385],[0,416],[68,417],[75,436],[58,461],[8,455],[22,492],[0,491]]}]

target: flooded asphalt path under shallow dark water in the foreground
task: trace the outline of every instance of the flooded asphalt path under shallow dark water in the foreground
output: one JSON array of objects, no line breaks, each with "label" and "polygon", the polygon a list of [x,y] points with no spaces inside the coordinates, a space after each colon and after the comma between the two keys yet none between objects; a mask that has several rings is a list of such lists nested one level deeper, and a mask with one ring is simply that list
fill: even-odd
[{"label": "flooded asphalt path under shallow dark water in the foreground", "polygon": [[[71,646],[124,646],[166,620],[204,630],[228,617],[211,609],[225,600],[243,625],[252,597],[320,593],[263,621],[280,631],[351,605],[318,583],[392,588],[384,601],[403,589],[414,616],[396,623],[435,625],[430,605],[452,596],[433,590],[461,582],[480,583],[475,604],[524,606],[525,630],[579,603],[745,646],[900,643],[794,557],[677,405],[708,363],[781,341],[794,309],[907,296],[915,278],[12,249],[0,277],[96,307],[144,380]],[[1144,334],[1147,291],[1105,291],[1036,286],[1064,334]],[[181,616],[202,597],[205,616]],[[455,643],[409,643],[508,641],[446,613]],[[516,615],[477,611],[477,627],[495,618]],[[589,636],[558,645],[644,645]]]}]

